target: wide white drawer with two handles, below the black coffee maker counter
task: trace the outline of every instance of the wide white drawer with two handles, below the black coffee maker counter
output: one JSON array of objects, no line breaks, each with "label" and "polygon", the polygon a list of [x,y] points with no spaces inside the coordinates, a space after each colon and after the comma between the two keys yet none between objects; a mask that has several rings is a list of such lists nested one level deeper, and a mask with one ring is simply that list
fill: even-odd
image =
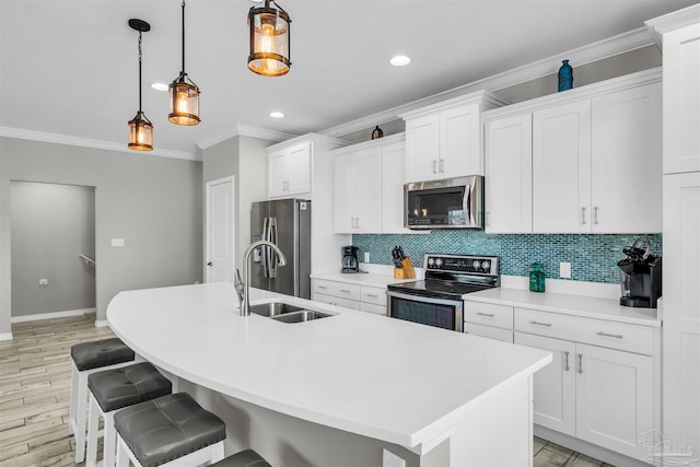
[{"label": "wide white drawer with two handles, below the black coffee maker counter", "polygon": [[515,308],[515,330],[648,355],[654,350],[653,328],[605,319]]}]

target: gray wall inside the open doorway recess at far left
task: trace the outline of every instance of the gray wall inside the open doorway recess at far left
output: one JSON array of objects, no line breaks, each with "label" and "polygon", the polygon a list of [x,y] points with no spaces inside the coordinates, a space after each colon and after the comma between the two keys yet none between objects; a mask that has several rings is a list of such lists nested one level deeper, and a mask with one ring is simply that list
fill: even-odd
[{"label": "gray wall inside the open doorway recess at far left", "polygon": [[[12,182],[12,316],[92,308],[95,268],[93,187]],[[47,285],[39,285],[47,279]]]}]

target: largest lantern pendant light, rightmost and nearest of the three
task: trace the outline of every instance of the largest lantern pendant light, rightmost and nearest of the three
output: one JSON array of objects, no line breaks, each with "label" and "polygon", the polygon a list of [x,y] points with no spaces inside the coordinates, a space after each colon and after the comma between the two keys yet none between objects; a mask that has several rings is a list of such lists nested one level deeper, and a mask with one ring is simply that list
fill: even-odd
[{"label": "largest lantern pendant light, rightmost and nearest of the three", "polygon": [[252,7],[250,55],[248,69],[264,77],[281,77],[292,66],[289,57],[289,27],[292,20],[275,0],[265,0],[262,7]]}]

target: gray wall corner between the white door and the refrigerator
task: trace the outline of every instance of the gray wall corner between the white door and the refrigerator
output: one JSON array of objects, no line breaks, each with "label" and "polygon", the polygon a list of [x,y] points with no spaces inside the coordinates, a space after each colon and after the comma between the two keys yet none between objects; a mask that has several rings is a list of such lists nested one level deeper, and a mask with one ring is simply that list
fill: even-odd
[{"label": "gray wall corner between the white door and the refrigerator", "polygon": [[[235,265],[250,244],[250,205],[267,199],[267,153],[273,141],[237,136],[202,151],[205,184],[234,176]],[[205,237],[206,238],[206,237]]]}]

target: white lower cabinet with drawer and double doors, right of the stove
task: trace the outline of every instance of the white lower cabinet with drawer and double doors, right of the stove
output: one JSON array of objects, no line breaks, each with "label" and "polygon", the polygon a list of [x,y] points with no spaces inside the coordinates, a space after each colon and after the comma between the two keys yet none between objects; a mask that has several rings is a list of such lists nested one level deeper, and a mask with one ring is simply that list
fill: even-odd
[{"label": "white lower cabinet with drawer and double doors, right of the stove", "polygon": [[635,459],[649,454],[640,439],[658,429],[653,328],[515,308],[514,341],[553,355],[535,374],[535,423]]}]

